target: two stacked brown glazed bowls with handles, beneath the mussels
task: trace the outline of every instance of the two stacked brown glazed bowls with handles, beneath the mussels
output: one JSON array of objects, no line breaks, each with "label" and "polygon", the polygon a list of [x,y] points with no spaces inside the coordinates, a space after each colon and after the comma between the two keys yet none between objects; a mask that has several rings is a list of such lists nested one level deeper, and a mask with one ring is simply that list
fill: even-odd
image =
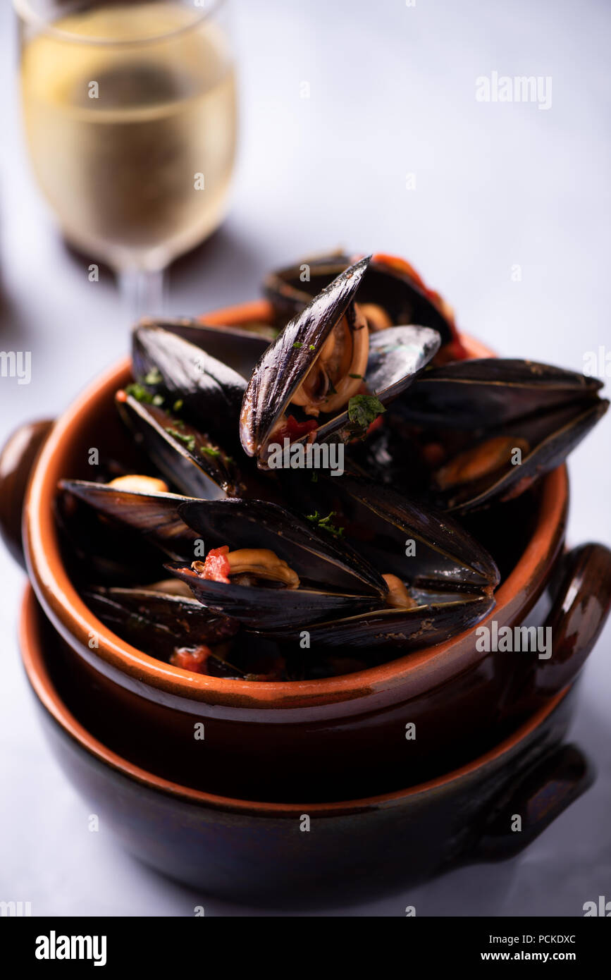
[{"label": "two stacked brown glazed bowls with handles, beneath the mussels", "polygon": [[[206,321],[273,314],[264,301]],[[121,362],[55,423],[20,429],[0,460],[3,535],[30,579],[25,670],[62,767],[129,851],[233,899],[353,899],[514,855],[584,792],[587,760],[563,738],[609,612],[611,555],[565,550],[565,466],[541,477],[484,620],[550,626],[550,656],[480,650],[470,627],[337,676],[211,676],[121,639],[60,547],[60,481],[86,478],[91,447],[130,452],[114,405],[130,380]]]}]

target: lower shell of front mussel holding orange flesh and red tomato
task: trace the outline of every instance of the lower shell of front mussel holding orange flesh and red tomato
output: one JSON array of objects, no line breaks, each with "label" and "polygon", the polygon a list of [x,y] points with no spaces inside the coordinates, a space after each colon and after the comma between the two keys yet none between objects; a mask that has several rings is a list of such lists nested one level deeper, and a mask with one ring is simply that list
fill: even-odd
[{"label": "lower shell of front mussel holding orange flesh and red tomato", "polygon": [[382,601],[373,596],[346,595],[315,589],[273,589],[254,585],[234,585],[202,578],[186,565],[166,564],[165,568],[186,582],[204,606],[217,613],[239,619],[246,627],[274,631],[280,628],[305,629],[311,622],[329,616],[346,616],[375,609]]}]

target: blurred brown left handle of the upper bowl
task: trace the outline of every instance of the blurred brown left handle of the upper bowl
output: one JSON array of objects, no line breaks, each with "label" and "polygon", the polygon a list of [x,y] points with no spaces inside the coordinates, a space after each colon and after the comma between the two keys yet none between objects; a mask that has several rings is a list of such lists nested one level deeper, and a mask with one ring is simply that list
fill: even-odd
[{"label": "blurred brown left handle of the upper bowl", "polygon": [[0,537],[25,569],[22,515],[27,481],[53,421],[26,422],[0,450]]}]

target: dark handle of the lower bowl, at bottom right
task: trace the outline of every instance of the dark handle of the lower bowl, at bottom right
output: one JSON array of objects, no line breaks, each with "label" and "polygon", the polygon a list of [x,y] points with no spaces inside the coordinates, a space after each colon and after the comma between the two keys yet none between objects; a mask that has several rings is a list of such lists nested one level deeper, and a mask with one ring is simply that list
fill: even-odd
[{"label": "dark handle of the lower bowl, at bottom right", "polygon": [[[574,745],[548,752],[494,801],[468,863],[513,858],[535,840],[593,782],[588,760]],[[521,830],[512,830],[515,815]]]}]

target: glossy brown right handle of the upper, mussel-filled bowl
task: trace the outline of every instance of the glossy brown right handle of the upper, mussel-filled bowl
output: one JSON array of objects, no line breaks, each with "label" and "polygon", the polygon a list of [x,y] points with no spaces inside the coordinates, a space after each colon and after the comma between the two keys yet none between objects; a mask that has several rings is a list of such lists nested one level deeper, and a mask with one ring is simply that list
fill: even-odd
[{"label": "glossy brown right handle of the upper, mussel-filled bowl", "polygon": [[552,654],[537,661],[537,694],[548,697],[570,684],[596,643],[611,609],[611,551],[586,544],[569,552],[544,627]]}]

